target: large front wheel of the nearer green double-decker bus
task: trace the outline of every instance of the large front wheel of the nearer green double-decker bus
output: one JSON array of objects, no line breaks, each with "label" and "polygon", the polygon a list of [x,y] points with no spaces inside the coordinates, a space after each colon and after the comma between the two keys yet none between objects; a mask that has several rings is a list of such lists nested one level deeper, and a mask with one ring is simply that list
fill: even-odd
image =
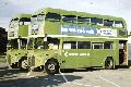
[{"label": "large front wheel of the nearer green double-decker bus", "polygon": [[59,73],[59,63],[55,59],[50,59],[45,63],[45,71],[49,75]]}]

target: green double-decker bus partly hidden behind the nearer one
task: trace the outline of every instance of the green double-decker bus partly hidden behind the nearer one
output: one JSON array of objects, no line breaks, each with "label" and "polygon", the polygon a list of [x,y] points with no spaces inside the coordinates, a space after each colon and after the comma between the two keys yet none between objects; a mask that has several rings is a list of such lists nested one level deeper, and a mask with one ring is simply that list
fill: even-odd
[{"label": "green double-decker bus partly hidden behind the nearer one", "polygon": [[31,14],[20,14],[10,21],[7,61],[12,69],[27,69],[27,37]]}]

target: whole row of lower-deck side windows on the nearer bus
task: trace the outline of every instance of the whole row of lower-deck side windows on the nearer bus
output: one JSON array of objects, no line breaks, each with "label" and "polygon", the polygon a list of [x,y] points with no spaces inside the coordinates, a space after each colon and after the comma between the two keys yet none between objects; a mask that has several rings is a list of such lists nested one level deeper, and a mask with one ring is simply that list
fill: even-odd
[{"label": "whole row of lower-deck side windows on the nearer bus", "polygon": [[63,41],[63,49],[112,49],[112,41]]}]

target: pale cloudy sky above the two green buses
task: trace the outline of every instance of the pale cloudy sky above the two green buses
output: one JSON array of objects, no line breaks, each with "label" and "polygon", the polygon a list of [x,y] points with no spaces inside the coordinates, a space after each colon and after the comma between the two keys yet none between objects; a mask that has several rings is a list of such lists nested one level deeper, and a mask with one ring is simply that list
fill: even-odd
[{"label": "pale cloudy sky above the two green buses", "polygon": [[123,17],[131,30],[131,0],[0,0],[0,27],[8,30],[11,17],[43,8]]}]

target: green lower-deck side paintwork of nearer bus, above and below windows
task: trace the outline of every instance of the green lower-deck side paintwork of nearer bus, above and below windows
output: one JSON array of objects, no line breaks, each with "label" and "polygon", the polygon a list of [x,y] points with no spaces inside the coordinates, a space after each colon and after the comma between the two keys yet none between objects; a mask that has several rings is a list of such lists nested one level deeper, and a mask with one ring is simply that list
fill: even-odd
[{"label": "green lower-deck side paintwork of nearer bus, above and below windows", "polygon": [[[63,41],[92,41],[92,42],[105,42],[106,39],[79,39],[79,38],[63,38]],[[115,40],[108,40],[114,41]],[[116,63],[116,65],[119,64],[118,62],[118,47],[116,44],[114,44],[114,49],[70,49],[64,50],[61,54],[61,60],[66,60],[66,63],[61,63],[61,69],[76,69],[76,67],[91,67],[91,66],[104,66],[105,60],[107,57],[112,57]],[[90,55],[71,55],[66,58],[64,53],[90,53]],[[117,54],[115,54],[117,52]]]}]

